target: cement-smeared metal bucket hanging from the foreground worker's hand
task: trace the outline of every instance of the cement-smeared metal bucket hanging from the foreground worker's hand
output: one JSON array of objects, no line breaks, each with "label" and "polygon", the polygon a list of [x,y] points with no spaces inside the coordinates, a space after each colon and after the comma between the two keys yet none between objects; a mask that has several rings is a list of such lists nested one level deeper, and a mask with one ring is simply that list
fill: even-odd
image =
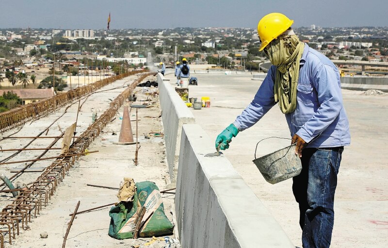
[{"label": "cement-smeared metal bucket hanging from the foreground worker's hand", "polygon": [[255,150],[255,160],[253,160],[253,163],[258,167],[261,175],[263,175],[267,182],[272,184],[282,182],[299,175],[302,171],[302,163],[300,158],[295,155],[294,150],[295,144],[260,158],[256,158]]}]

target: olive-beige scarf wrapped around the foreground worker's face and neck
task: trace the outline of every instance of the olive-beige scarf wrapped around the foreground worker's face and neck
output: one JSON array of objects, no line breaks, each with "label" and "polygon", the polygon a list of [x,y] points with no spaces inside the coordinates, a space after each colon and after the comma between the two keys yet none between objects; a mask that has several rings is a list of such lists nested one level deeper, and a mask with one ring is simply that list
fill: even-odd
[{"label": "olive-beige scarf wrapped around the foreground worker's face and neck", "polygon": [[288,30],[273,40],[267,49],[271,63],[277,67],[275,74],[275,102],[282,113],[292,113],[296,108],[296,86],[299,79],[300,59],[305,43]]}]

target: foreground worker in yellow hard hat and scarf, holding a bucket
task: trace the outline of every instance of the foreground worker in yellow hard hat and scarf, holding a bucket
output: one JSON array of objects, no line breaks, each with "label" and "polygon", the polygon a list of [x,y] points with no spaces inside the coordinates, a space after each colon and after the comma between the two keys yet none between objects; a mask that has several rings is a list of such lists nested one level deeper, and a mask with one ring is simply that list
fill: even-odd
[{"label": "foreground worker in yellow hard hat and scarf, holding a bucket", "polygon": [[291,29],[293,20],[271,13],[258,24],[264,50],[273,66],[249,106],[217,139],[229,148],[239,132],[253,126],[276,103],[285,114],[291,144],[302,162],[292,191],[299,203],[304,248],[330,246],[334,193],[344,146],[350,145],[349,122],[342,104],[338,68],[308,47]]}]

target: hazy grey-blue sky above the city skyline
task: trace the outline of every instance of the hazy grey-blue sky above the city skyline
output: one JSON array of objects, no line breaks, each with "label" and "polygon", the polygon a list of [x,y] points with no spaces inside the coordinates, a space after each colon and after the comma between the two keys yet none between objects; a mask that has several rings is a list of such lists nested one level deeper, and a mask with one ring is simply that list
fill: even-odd
[{"label": "hazy grey-blue sky above the city skyline", "polygon": [[256,28],[280,12],[294,27],[388,26],[388,0],[1,0],[0,28]]}]

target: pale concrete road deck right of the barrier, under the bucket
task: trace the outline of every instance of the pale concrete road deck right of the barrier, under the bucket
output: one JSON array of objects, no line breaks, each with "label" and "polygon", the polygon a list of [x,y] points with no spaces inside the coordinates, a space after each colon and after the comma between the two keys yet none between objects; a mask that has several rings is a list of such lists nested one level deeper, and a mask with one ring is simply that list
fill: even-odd
[{"label": "pale concrete road deck right of the barrier, under the bucket", "polygon": [[[251,75],[193,74],[198,86],[189,86],[189,97],[210,97],[210,108],[191,109],[196,123],[214,140],[251,102],[261,81]],[[166,75],[173,85],[173,75]],[[380,248],[388,243],[388,94],[363,95],[343,90],[352,135],[345,147],[335,196],[332,248]],[[291,180],[269,184],[252,163],[256,144],[271,137],[290,138],[284,115],[277,105],[256,125],[238,134],[224,152],[232,165],[268,207],[291,238],[302,247],[299,211]],[[257,157],[287,146],[282,139],[268,139],[258,146]],[[254,238],[254,237],[252,237]]]}]

